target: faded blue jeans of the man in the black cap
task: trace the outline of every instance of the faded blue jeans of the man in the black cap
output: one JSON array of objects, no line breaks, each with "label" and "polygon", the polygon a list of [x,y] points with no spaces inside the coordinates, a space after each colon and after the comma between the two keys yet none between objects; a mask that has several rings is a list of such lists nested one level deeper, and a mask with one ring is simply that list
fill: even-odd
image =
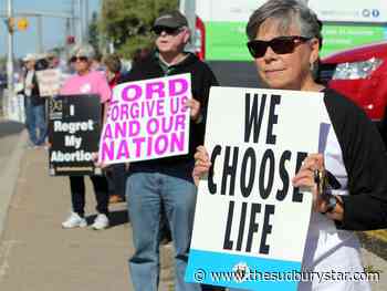
[{"label": "faded blue jeans of the man in the black cap", "polygon": [[126,186],[135,247],[135,253],[129,259],[129,271],[135,290],[158,290],[161,204],[176,250],[175,290],[201,290],[199,284],[184,281],[197,196],[190,169],[172,167],[166,173],[154,167],[130,173]]}]

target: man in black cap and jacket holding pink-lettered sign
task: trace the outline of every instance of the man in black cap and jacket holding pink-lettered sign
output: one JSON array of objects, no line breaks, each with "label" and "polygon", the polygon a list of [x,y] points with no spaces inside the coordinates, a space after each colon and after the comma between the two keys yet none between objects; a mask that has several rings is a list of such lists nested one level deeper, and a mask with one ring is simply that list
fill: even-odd
[{"label": "man in black cap and jacket holding pink-lettered sign", "polygon": [[123,77],[123,83],[190,73],[194,96],[188,104],[190,149],[188,155],[129,165],[126,194],[135,246],[135,253],[129,259],[132,282],[135,290],[154,291],[158,288],[163,205],[176,250],[176,290],[200,290],[200,285],[184,281],[197,195],[191,170],[195,148],[203,142],[209,90],[217,85],[217,80],[208,65],[184,51],[190,38],[185,15],[178,11],[166,12],[156,19],[153,31],[156,52],[134,66]]}]

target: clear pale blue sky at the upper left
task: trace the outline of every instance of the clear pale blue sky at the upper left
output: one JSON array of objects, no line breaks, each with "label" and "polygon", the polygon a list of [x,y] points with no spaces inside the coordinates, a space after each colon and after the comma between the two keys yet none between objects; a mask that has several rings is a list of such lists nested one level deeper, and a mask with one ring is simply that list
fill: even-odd
[{"label": "clear pale blue sky at the upper left", "polygon": [[[72,0],[12,0],[13,11],[42,11],[42,12],[59,12],[70,13]],[[102,0],[88,0],[88,9],[92,14],[93,11],[100,12]],[[0,11],[7,11],[8,0],[0,0]],[[76,3],[77,1],[75,1]],[[77,10],[76,10],[77,11]],[[91,19],[91,17],[90,17]],[[8,31],[3,22],[0,20],[0,56],[7,54],[7,38]],[[14,55],[23,56],[27,53],[34,53],[38,51],[36,38],[36,20],[29,18],[29,28],[23,32],[15,32],[13,37]],[[65,42],[65,20],[55,18],[43,18],[43,48],[49,50],[51,48],[63,45]]]}]

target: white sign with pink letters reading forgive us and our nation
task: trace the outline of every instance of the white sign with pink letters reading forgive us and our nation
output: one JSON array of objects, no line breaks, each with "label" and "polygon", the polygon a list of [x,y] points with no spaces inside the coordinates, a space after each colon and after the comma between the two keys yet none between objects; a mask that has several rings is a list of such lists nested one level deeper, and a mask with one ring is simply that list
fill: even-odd
[{"label": "white sign with pink letters reading forgive us and our nation", "polygon": [[189,147],[190,74],[114,87],[100,142],[104,164],[185,155]]}]

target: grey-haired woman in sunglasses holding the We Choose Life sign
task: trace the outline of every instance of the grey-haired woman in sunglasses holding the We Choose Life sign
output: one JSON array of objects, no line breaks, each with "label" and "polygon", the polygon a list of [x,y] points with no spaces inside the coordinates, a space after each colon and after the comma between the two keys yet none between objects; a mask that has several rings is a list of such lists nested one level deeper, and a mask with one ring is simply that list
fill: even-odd
[{"label": "grey-haired woman in sunglasses holding the We Choose Life sign", "polygon": [[[307,156],[292,183],[311,188],[314,196],[303,270],[346,278],[318,281],[314,277],[300,282],[299,290],[370,290],[367,281],[352,280],[364,272],[352,230],[387,226],[387,159],[380,136],[358,107],[313,80],[321,22],[306,6],[294,0],[268,1],[250,17],[247,34],[261,80],[270,89],[323,92],[332,122],[324,152]],[[294,110],[295,116],[302,113]],[[202,146],[195,157],[198,181],[211,165]]]}]

